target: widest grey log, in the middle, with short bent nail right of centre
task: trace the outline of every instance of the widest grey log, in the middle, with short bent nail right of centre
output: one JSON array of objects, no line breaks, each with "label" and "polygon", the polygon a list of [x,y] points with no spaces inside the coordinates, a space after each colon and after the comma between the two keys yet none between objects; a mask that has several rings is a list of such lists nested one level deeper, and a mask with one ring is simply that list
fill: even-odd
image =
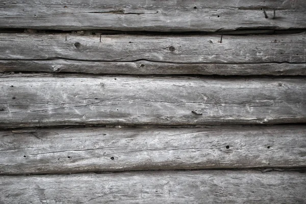
[{"label": "widest grey log, in the middle, with short bent nail right of centre", "polygon": [[2,77],[0,127],[306,121],[296,79]]}]

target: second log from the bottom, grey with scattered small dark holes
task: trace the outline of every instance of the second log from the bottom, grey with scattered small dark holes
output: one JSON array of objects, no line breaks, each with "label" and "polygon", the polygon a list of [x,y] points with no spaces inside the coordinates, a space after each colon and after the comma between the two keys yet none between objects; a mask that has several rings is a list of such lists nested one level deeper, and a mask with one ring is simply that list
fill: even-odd
[{"label": "second log from the bottom, grey with scattered small dark holes", "polygon": [[306,167],[306,126],[0,132],[0,174]]}]

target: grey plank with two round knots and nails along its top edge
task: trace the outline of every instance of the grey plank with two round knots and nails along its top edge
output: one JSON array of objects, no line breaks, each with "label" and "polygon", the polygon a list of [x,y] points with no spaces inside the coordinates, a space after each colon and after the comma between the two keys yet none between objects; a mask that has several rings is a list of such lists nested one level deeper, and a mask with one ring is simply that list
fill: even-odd
[{"label": "grey plank with two round knots and nails along its top edge", "polygon": [[[305,15],[306,16],[306,15]],[[101,41],[101,42],[100,42]],[[1,34],[1,60],[306,62],[306,33],[263,36]]]}]

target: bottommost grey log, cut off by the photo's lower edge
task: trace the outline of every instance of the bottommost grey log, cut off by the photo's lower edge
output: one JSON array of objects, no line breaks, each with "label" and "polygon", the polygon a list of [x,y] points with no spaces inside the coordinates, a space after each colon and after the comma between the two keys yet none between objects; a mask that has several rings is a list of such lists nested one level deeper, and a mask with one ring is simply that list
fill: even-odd
[{"label": "bottommost grey log, cut off by the photo's lower edge", "polygon": [[0,176],[3,203],[305,203],[305,173],[149,171]]}]

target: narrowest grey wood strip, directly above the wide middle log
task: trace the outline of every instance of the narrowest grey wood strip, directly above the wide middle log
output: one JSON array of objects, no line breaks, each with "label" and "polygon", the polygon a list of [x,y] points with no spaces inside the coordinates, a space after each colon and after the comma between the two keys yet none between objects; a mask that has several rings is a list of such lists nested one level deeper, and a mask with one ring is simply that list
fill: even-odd
[{"label": "narrowest grey wood strip, directly above the wide middle log", "polygon": [[0,60],[0,71],[94,74],[306,75],[306,63],[166,63],[78,60]]}]

